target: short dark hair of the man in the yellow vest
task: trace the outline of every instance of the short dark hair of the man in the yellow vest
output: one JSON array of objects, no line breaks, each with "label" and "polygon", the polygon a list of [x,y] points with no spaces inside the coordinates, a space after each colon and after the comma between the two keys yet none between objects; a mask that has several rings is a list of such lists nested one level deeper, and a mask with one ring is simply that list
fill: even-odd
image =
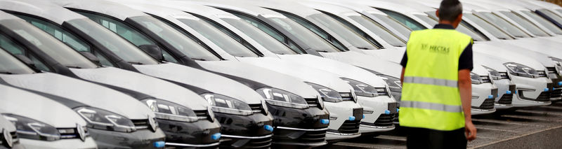
[{"label": "short dark hair of the man in the yellow vest", "polygon": [[462,4],[459,0],[443,0],[439,6],[439,20],[455,21],[462,13]]}]

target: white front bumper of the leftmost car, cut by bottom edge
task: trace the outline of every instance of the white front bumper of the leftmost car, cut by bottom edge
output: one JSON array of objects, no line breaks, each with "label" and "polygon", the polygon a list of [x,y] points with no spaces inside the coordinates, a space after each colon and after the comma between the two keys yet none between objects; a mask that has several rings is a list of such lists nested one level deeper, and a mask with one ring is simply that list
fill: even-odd
[{"label": "white front bumper of the leftmost car, cut by bottom edge", "polygon": [[[58,141],[41,141],[41,140],[20,138],[20,143],[18,146],[20,146],[18,148],[23,147],[23,148],[45,148],[45,149],[98,148],[98,146],[96,145],[96,141],[93,141],[92,137],[86,137],[84,141],[81,141],[80,139],[60,139]],[[16,146],[14,146],[13,148],[16,148]]]}]

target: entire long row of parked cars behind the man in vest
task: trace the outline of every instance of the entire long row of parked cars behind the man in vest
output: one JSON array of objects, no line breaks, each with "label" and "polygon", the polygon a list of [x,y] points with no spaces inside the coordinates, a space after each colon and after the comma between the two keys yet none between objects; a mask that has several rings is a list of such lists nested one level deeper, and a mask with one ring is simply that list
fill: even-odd
[{"label": "entire long row of parked cars behind the man in vest", "polygon": [[[389,131],[408,35],[437,23],[439,2],[0,0],[0,148],[313,147]],[[473,114],[562,99],[561,7],[462,2]]]}]

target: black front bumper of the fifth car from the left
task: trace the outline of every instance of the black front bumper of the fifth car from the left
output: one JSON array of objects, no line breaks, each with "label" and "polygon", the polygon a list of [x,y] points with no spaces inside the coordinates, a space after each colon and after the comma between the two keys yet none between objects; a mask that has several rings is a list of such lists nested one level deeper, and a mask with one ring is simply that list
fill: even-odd
[{"label": "black front bumper of the fifth car from the left", "polygon": [[271,106],[268,109],[273,115],[273,144],[289,146],[324,146],[329,120],[329,113],[324,108],[315,106],[305,109]]}]

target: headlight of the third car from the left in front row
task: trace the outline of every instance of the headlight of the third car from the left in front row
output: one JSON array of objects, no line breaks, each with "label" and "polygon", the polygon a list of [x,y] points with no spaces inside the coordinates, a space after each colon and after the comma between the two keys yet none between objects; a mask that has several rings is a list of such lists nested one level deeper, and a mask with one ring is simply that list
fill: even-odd
[{"label": "headlight of the third car from the left in front row", "polygon": [[158,119],[180,122],[195,122],[198,120],[195,111],[179,104],[174,104],[162,99],[145,99],[142,102],[146,104],[150,110],[154,111]]}]

